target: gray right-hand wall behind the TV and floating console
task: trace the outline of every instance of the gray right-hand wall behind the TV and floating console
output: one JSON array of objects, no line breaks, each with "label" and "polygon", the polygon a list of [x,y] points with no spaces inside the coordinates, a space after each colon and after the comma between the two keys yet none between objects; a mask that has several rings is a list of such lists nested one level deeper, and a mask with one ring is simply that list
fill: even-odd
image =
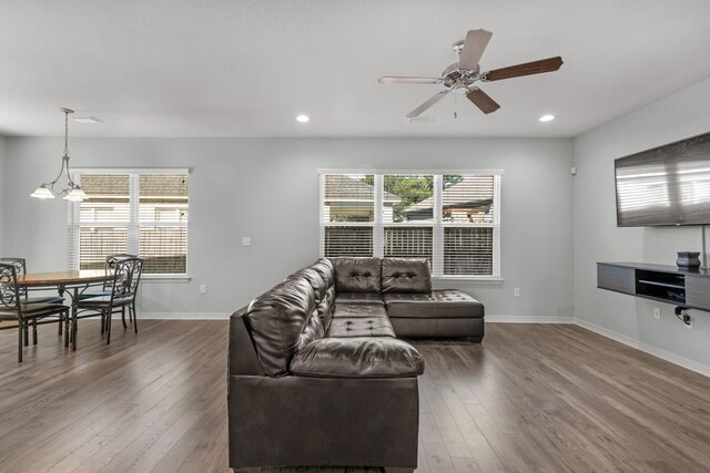
[{"label": "gray right-hand wall behind the TV and floating console", "polygon": [[[575,316],[666,358],[710,367],[710,313],[682,327],[673,307],[597,289],[597,261],[673,265],[678,250],[702,250],[701,227],[617,228],[613,160],[710,131],[704,80],[575,138]],[[662,309],[653,319],[653,307]],[[683,362],[683,360],[677,360]]]}]

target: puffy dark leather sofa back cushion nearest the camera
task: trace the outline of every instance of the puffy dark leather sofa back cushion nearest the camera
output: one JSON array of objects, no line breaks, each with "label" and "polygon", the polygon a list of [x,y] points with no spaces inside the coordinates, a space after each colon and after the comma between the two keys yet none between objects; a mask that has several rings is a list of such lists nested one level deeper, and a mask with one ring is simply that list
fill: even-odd
[{"label": "puffy dark leather sofa back cushion nearest the camera", "polygon": [[[265,374],[278,377],[288,373],[293,354],[303,346],[304,328],[310,331],[304,337],[318,335],[317,327],[306,326],[314,311],[313,287],[303,277],[288,278],[252,300],[246,320]],[[321,336],[322,329],[321,325]]]}]

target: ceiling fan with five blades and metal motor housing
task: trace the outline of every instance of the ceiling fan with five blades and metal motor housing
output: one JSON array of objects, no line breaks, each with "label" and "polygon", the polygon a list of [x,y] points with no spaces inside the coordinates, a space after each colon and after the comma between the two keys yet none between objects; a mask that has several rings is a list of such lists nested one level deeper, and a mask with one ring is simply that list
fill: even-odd
[{"label": "ceiling fan with five blades and metal motor housing", "polygon": [[465,93],[466,97],[470,100],[474,105],[485,114],[488,114],[498,110],[500,105],[478,89],[475,85],[476,82],[491,82],[523,75],[541,74],[544,72],[557,71],[562,65],[562,58],[555,56],[480,72],[478,61],[484,54],[490,37],[493,37],[490,31],[470,30],[466,34],[466,40],[455,42],[452,48],[454,48],[454,51],[456,51],[459,56],[458,62],[446,68],[444,72],[442,72],[440,78],[385,75],[377,81],[381,84],[443,84],[446,88],[446,90],[438,92],[432,99],[407,113],[408,119],[419,116],[425,110],[444,99],[444,96],[450,92]]}]

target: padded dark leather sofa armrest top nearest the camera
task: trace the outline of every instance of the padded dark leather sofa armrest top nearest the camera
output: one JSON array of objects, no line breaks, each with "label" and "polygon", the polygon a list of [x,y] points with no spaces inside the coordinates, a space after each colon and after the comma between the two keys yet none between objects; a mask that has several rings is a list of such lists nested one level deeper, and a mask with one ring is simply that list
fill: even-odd
[{"label": "padded dark leather sofa armrest top nearest the camera", "polygon": [[410,378],[424,372],[424,360],[395,338],[322,338],[296,352],[291,372],[308,378]]}]

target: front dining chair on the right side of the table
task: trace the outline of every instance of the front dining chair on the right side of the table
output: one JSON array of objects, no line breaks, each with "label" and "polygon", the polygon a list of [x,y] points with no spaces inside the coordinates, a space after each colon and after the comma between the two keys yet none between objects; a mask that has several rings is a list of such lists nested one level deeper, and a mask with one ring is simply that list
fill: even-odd
[{"label": "front dining chair on the right side of the table", "polygon": [[[111,282],[111,292],[108,295],[99,295],[79,299],[78,312],[83,313],[81,317],[74,315],[72,327],[75,327],[78,318],[92,317],[95,312],[101,315],[101,332],[106,332],[106,345],[111,343],[111,316],[121,312],[123,328],[125,325],[125,309],[129,309],[129,316],[133,311],[133,330],[138,333],[138,320],[135,318],[135,297],[143,270],[143,258],[130,257],[116,259],[113,267],[113,280]],[[89,315],[87,315],[89,313]],[[75,328],[72,330],[73,340],[77,340]]]}]

